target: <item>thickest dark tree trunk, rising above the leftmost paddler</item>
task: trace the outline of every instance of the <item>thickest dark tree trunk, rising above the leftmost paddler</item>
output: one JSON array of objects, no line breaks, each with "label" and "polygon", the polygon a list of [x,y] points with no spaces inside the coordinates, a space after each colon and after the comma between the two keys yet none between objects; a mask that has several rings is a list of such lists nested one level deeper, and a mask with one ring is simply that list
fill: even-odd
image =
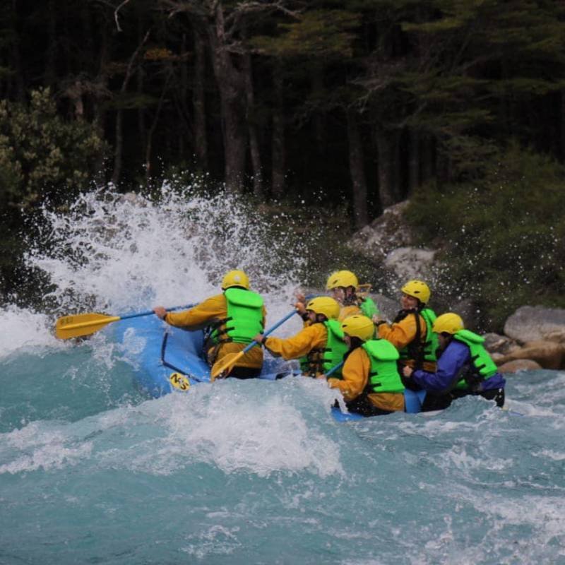
[{"label": "thickest dark tree trunk, rising above the leftmost paddler", "polygon": [[208,26],[212,59],[222,114],[222,136],[225,152],[225,184],[228,191],[242,189],[247,152],[245,86],[241,71],[234,66],[226,49],[224,16],[220,2],[215,6],[215,19]]}]

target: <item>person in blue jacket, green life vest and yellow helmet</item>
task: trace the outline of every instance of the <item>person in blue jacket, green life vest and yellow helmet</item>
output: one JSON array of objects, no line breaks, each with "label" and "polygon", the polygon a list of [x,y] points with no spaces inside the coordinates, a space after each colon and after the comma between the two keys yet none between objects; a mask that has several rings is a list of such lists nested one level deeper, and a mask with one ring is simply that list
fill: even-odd
[{"label": "person in blue jacket, green life vest and yellow helmet", "polygon": [[466,330],[463,319],[453,312],[438,316],[432,330],[441,351],[436,371],[404,367],[405,378],[434,394],[451,399],[478,395],[502,408],[506,380],[484,348],[484,338]]}]

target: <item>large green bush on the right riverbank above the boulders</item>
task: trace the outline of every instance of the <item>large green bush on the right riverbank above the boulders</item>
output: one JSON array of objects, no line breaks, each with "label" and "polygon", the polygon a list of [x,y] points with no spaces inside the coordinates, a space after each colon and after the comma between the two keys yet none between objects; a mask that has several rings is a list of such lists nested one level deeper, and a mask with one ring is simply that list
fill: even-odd
[{"label": "large green bush on the right riverbank above the boulders", "polygon": [[453,295],[476,299],[500,328],[523,304],[565,306],[565,168],[516,143],[465,184],[428,186],[408,218],[422,241],[444,244]]}]

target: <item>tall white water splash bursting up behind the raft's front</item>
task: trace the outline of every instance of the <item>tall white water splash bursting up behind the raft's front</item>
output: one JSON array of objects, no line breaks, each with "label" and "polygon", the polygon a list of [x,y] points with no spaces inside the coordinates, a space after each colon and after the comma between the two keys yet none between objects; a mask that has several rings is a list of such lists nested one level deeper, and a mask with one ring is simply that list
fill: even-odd
[{"label": "tall white water splash bursting up behind the raft's front", "polygon": [[218,292],[232,268],[280,302],[304,268],[292,225],[273,232],[244,198],[203,196],[198,185],[165,183],[152,195],[97,189],[64,213],[45,206],[42,216],[25,261],[49,276],[46,299],[58,312],[195,302]]}]

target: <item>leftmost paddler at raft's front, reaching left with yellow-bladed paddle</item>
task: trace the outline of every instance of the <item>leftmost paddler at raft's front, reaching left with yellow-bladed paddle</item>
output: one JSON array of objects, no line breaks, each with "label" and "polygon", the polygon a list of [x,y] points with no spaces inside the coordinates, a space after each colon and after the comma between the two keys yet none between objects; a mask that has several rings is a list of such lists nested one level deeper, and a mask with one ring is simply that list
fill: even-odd
[{"label": "leftmost paddler at raft's front, reaching left with yellow-bladed paddle", "polygon": [[[205,350],[212,371],[226,355],[239,353],[256,333],[263,331],[266,309],[263,298],[249,290],[249,278],[242,270],[230,270],[222,280],[222,294],[209,297],[196,307],[167,312],[162,306],[155,314],[171,326],[189,330],[208,328]],[[261,347],[252,347],[234,364],[227,376],[252,379],[263,367]]]}]

